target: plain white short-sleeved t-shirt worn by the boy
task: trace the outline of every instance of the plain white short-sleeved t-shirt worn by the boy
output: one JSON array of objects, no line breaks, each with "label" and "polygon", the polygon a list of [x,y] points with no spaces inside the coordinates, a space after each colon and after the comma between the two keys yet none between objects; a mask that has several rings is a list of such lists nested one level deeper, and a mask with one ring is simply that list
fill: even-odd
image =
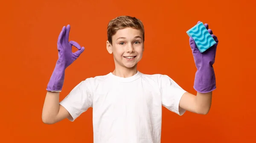
[{"label": "plain white short-sleeved t-shirt worn by the boy", "polygon": [[162,106],[178,115],[186,93],[169,76],[109,73],[81,81],[60,104],[74,121],[93,107],[94,143],[160,143]]}]

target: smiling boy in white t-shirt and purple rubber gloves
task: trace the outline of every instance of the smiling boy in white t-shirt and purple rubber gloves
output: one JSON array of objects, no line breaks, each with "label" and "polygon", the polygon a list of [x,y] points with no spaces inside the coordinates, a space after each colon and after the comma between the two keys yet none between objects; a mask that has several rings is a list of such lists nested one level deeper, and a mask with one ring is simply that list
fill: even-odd
[{"label": "smiling boy in white t-shirt and purple rubber gloves", "polygon": [[[205,24],[208,29],[208,25]],[[59,103],[65,69],[84,51],[84,47],[68,40],[70,25],[64,26],[58,38],[59,58],[47,86],[42,120],[52,124],[68,118],[74,121],[93,107],[94,143],[160,143],[162,106],[178,115],[190,111],[207,114],[215,90],[217,44],[200,53],[192,38],[190,47],[197,72],[194,88],[197,95],[183,90],[169,76],[147,75],[137,70],[143,56],[144,27],[135,17],[120,16],[108,24],[107,50],[113,54],[115,69],[104,76],[81,81]],[[72,53],[72,45],[79,50]]]}]

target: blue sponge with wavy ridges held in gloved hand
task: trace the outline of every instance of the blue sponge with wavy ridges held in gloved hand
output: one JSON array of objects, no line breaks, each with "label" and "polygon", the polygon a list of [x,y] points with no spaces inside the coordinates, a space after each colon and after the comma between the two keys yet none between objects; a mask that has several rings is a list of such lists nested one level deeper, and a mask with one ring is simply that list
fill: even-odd
[{"label": "blue sponge with wavy ridges held in gloved hand", "polygon": [[216,44],[215,40],[212,38],[211,34],[209,34],[203,22],[198,23],[186,31],[186,33],[189,35],[189,37],[194,39],[195,44],[201,53],[212,47],[212,45]]}]

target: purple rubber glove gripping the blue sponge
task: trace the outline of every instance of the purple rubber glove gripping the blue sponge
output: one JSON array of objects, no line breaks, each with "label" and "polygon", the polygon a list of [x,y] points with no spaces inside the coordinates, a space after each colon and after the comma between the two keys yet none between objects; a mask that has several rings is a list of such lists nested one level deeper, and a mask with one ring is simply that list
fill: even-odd
[{"label": "purple rubber glove gripping the blue sponge", "polygon": [[[201,21],[198,21],[198,23]],[[199,93],[208,93],[216,89],[215,73],[212,65],[215,62],[216,48],[218,39],[212,34],[212,30],[208,28],[208,24],[204,24],[212,38],[217,42],[215,45],[201,53],[195,45],[194,39],[189,38],[189,44],[194,56],[197,71],[195,73],[194,89]]]}]

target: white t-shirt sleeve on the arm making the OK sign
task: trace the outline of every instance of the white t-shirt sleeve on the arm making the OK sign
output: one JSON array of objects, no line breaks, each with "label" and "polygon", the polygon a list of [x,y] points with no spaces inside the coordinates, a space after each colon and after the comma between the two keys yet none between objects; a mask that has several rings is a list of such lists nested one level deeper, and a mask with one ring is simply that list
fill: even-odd
[{"label": "white t-shirt sleeve on the arm making the OK sign", "polygon": [[74,121],[89,107],[93,107],[93,91],[89,79],[81,81],[71,92],[59,103],[70,113]]}]

